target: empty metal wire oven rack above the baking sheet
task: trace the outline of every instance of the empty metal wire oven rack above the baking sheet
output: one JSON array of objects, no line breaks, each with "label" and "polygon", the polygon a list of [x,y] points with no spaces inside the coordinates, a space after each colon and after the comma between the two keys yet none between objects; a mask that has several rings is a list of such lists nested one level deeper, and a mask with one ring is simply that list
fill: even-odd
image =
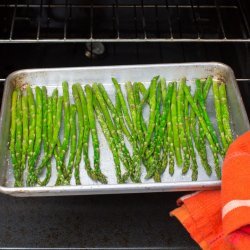
[{"label": "empty metal wire oven rack above the baking sheet", "polygon": [[249,43],[240,0],[5,0],[0,43]]}]

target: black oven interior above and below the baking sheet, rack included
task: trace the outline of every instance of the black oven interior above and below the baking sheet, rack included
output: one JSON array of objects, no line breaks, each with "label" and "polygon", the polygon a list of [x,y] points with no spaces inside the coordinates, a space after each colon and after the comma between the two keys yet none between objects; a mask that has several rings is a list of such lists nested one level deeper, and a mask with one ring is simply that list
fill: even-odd
[{"label": "black oven interior above and below the baking sheet, rack included", "polygon": [[[0,91],[23,68],[218,61],[250,115],[248,1],[0,2]],[[0,247],[196,248],[169,217],[183,193],[0,195]]]}]

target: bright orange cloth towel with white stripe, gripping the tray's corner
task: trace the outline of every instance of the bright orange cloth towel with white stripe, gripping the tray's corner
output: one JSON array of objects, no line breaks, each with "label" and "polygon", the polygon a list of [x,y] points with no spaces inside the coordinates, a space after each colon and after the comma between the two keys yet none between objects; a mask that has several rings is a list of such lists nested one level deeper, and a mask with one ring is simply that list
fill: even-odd
[{"label": "bright orange cloth towel with white stripe, gripping the tray's corner", "polygon": [[202,249],[250,249],[250,132],[229,147],[221,191],[186,195],[170,212]]}]

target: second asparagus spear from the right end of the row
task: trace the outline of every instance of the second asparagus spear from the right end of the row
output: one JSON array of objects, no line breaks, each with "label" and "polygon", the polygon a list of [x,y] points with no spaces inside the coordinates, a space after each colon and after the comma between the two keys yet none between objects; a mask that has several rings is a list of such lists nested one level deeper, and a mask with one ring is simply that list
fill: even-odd
[{"label": "second asparagus spear from the right end of the row", "polygon": [[220,132],[221,142],[226,151],[228,148],[228,143],[225,137],[223,122],[222,122],[222,114],[221,114],[221,103],[220,103],[220,95],[219,95],[219,84],[217,81],[213,81],[213,94],[214,94],[214,106],[216,111],[216,118],[218,123],[218,128]]}]

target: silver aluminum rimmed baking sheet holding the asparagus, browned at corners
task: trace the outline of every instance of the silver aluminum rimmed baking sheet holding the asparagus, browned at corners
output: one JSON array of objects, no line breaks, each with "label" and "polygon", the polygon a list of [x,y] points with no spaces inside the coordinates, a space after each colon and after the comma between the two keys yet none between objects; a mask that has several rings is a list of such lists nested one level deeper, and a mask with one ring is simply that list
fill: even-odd
[{"label": "silver aluminum rimmed baking sheet holding the asparagus, browned at corners", "polygon": [[[115,99],[115,90],[111,83],[111,77],[116,77],[124,87],[126,81],[142,81],[149,85],[153,76],[164,76],[168,81],[179,80],[186,77],[188,83],[195,88],[195,78],[205,78],[212,75],[214,78],[223,79],[227,84],[227,94],[229,100],[231,126],[234,137],[249,130],[249,120],[246,115],[240,92],[230,67],[221,63],[186,63],[186,64],[153,64],[153,65],[132,65],[132,66],[107,66],[107,67],[84,67],[84,68],[55,68],[55,69],[28,69],[20,70],[8,76],[5,83],[4,96],[0,120],[0,192],[14,196],[57,196],[57,195],[87,195],[87,194],[111,194],[111,193],[139,193],[139,192],[164,192],[164,191],[190,191],[190,190],[207,190],[220,187],[220,181],[213,174],[208,177],[197,157],[199,165],[198,180],[191,181],[191,171],[186,175],[181,174],[181,168],[175,166],[175,173],[170,176],[168,169],[162,176],[161,183],[154,183],[153,180],[145,180],[145,169],[142,170],[142,183],[140,184],[117,184],[115,178],[115,168],[112,154],[108,148],[106,140],[98,126],[101,150],[101,169],[108,177],[107,185],[93,182],[86,174],[84,162],[80,164],[81,181],[83,185],[76,186],[72,181],[71,186],[54,186],[57,174],[55,162],[53,161],[52,178],[46,187],[14,187],[13,171],[8,150],[9,127],[10,127],[10,109],[11,94],[14,86],[31,86],[45,85],[48,93],[54,88],[59,89],[62,93],[61,82],[66,80],[71,86],[75,82],[82,85],[101,82],[104,84],[111,99]],[[216,126],[215,111],[213,104],[212,91],[208,95],[207,105],[208,112],[212,122]],[[148,117],[148,110],[144,111],[145,117]],[[213,157],[209,147],[208,160],[213,166]],[[90,145],[90,159],[93,151]],[[45,173],[44,173],[45,174]]]}]

